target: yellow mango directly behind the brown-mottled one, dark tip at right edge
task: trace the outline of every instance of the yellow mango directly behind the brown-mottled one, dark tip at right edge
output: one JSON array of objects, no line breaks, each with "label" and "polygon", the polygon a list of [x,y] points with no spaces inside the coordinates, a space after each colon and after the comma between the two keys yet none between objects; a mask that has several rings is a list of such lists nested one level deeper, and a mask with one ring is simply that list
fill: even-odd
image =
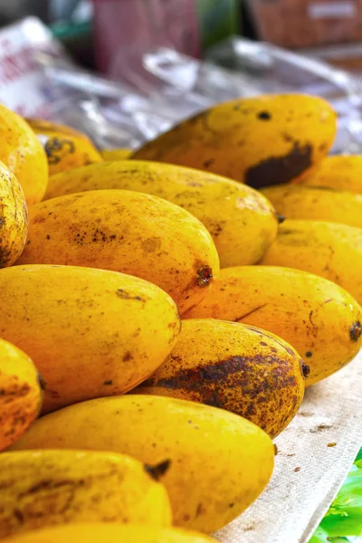
[{"label": "yellow mango directly behind the brown-mottled one, dark tip at right edge", "polygon": [[310,366],[306,386],[335,373],[362,345],[362,314],[341,287],[307,271],[278,266],[226,268],[186,319],[225,319],[288,341]]}]

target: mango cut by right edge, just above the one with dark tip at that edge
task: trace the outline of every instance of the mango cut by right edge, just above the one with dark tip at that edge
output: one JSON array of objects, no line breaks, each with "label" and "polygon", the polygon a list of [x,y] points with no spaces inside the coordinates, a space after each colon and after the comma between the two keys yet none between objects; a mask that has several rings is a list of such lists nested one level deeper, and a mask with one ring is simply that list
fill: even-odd
[{"label": "mango cut by right edge, just above the one with dark tip at that edge", "polygon": [[291,219],[260,262],[310,271],[333,281],[362,304],[362,229]]}]

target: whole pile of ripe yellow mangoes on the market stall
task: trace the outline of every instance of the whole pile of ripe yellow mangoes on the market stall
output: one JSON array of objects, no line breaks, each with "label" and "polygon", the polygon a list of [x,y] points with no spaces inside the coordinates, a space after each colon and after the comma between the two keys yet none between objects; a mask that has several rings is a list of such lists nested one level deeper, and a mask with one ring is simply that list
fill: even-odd
[{"label": "whole pile of ripe yellow mangoes on the market stall", "polygon": [[361,347],[362,157],[319,98],[135,153],[0,106],[0,538],[206,543]]}]

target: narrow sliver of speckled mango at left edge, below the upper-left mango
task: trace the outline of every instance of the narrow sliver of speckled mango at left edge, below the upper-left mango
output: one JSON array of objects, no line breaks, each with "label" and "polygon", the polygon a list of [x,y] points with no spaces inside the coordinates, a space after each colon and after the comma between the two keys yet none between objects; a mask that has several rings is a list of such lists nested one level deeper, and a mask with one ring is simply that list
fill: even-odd
[{"label": "narrow sliver of speckled mango at left edge, below the upper-left mango", "polygon": [[0,268],[11,266],[21,255],[28,232],[24,191],[0,162]]}]

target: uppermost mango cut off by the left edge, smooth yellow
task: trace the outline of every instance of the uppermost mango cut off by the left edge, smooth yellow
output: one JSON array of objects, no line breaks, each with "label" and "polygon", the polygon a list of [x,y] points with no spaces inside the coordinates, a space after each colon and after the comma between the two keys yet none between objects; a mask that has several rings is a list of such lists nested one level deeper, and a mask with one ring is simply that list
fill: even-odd
[{"label": "uppermost mango cut off by the left edge, smooth yellow", "polygon": [[28,123],[0,104],[0,160],[23,187],[28,205],[43,199],[48,162],[43,146]]}]

